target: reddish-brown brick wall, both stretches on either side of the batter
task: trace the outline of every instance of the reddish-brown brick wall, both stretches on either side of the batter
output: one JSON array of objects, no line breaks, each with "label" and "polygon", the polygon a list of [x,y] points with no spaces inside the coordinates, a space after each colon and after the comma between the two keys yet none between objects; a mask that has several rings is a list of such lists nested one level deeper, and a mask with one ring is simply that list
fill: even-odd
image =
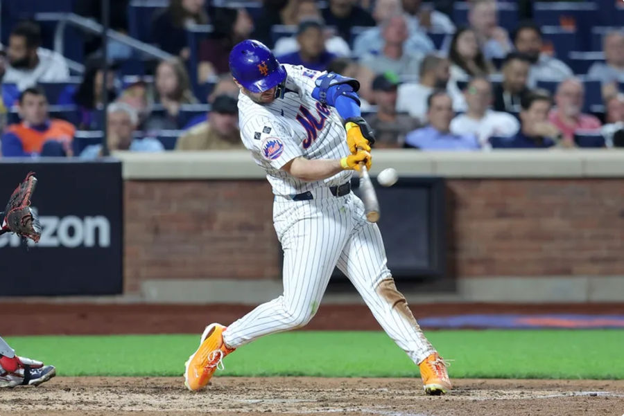
[{"label": "reddish-brown brick wall, both stretches on either side of the batter", "polygon": [[[146,279],[281,275],[266,181],[126,181],[126,293]],[[447,181],[460,277],[624,275],[623,179]]]}]

